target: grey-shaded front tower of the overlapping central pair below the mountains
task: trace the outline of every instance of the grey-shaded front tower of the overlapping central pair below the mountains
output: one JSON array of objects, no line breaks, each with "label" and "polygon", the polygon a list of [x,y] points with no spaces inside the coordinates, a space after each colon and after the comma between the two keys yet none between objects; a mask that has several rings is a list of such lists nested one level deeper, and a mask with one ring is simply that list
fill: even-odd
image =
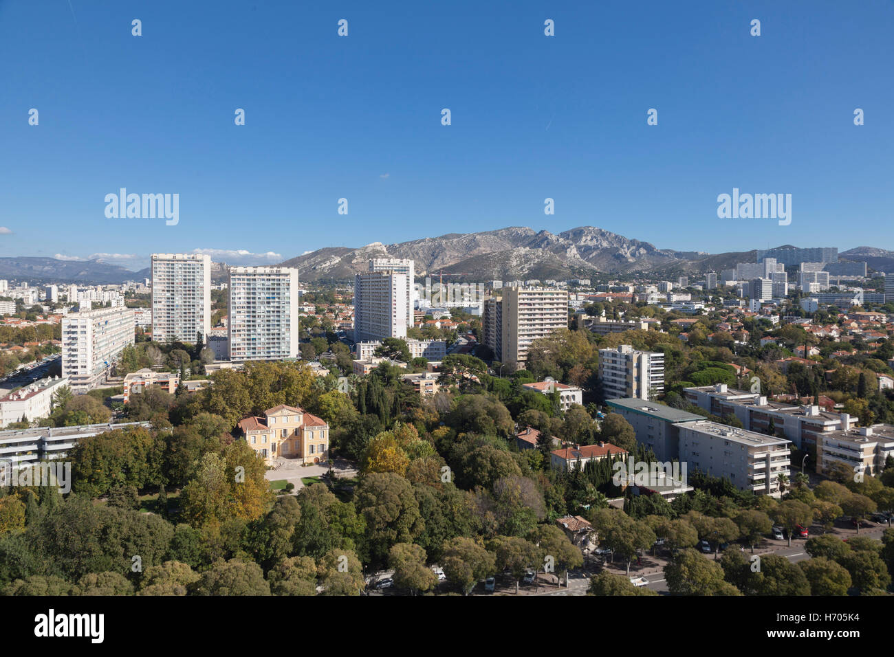
[{"label": "grey-shaded front tower of the overlapping central pair below the mountains", "polygon": [[[406,338],[407,274],[365,272],[354,277],[354,341]],[[412,322],[412,319],[410,319]]]}]

